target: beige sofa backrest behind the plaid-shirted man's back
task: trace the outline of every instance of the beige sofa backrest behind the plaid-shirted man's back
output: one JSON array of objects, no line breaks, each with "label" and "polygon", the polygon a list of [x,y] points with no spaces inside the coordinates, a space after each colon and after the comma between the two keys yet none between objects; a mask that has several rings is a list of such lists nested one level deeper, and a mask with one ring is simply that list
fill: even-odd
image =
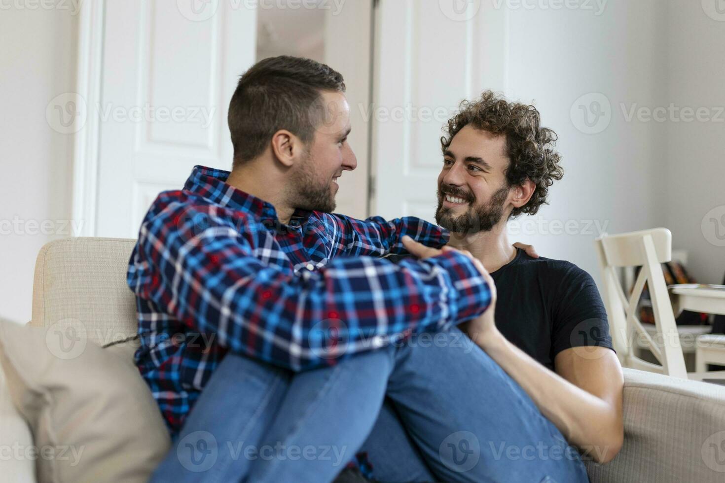
[{"label": "beige sofa backrest behind the plaid-shirted man's back", "polygon": [[41,248],[33,281],[34,327],[69,327],[98,345],[136,335],[136,299],[126,285],[136,240],[65,238]]}]

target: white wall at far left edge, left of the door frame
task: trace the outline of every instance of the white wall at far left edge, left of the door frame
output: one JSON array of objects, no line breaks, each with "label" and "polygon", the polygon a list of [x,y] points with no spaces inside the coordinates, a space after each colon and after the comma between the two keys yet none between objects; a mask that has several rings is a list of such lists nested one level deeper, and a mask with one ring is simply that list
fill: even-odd
[{"label": "white wall at far left edge, left of the door frame", "polygon": [[[46,122],[46,105],[73,91],[77,17],[43,2],[6,2],[0,11],[0,318],[30,320],[33,268],[41,246],[71,212],[72,138]],[[14,222],[16,221],[17,222]],[[47,221],[46,221],[47,220]],[[46,222],[44,231],[35,223]],[[50,230],[49,230],[50,228]]]}]

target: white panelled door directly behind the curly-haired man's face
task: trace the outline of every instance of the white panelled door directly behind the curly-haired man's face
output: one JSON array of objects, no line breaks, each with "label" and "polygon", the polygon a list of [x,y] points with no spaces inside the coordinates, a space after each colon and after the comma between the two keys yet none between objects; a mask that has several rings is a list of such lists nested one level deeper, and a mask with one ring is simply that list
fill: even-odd
[{"label": "white panelled door directly behind the curly-haired man's face", "polygon": [[370,214],[434,221],[441,129],[463,98],[505,90],[507,22],[488,1],[379,2]]}]

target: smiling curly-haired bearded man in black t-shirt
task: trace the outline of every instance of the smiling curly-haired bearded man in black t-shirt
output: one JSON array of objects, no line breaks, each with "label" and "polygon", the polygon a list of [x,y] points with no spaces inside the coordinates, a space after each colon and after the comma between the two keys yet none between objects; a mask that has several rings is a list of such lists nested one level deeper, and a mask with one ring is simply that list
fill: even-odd
[{"label": "smiling curly-haired bearded man in black t-shirt", "polygon": [[[436,222],[452,232],[449,245],[483,262],[496,285],[494,311],[459,327],[568,442],[604,463],[624,440],[624,377],[595,282],[568,261],[534,259],[512,247],[506,232],[508,219],[536,214],[554,180],[563,176],[556,139],[554,131],[541,127],[534,106],[491,91],[464,101],[441,138]],[[476,381],[475,369],[461,369]],[[487,411],[481,407],[481,415]],[[402,444],[397,431],[395,416],[389,416],[366,442],[376,471],[402,478],[397,461],[406,461],[407,474],[425,474],[417,450]],[[481,445],[502,455],[510,450],[505,441]],[[523,458],[522,448],[515,449]]]}]

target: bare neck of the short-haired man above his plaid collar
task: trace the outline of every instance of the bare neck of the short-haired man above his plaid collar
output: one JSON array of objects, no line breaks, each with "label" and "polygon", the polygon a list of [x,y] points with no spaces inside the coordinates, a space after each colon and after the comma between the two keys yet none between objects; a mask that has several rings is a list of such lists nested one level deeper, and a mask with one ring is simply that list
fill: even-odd
[{"label": "bare neck of the short-haired man above his plaid collar", "polygon": [[270,203],[277,211],[279,221],[288,224],[294,213],[294,206],[286,201],[285,180],[281,173],[261,169],[263,165],[263,160],[248,161],[234,168],[226,182],[244,193]]}]

